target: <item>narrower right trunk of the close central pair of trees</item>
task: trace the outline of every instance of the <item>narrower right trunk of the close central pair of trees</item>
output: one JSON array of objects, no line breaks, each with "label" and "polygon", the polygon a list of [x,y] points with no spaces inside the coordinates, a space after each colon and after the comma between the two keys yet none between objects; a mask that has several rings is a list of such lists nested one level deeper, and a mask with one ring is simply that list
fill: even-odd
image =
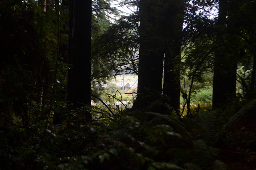
[{"label": "narrower right trunk of the close central pair of trees", "polygon": [[166,52],[164,57],[163,94],[169,97],[168,104],[174,108],[177,115],[180,109],[180,53],[182,26],[184,17],[184,1],[164,1],[164,32],[166,37]]}]

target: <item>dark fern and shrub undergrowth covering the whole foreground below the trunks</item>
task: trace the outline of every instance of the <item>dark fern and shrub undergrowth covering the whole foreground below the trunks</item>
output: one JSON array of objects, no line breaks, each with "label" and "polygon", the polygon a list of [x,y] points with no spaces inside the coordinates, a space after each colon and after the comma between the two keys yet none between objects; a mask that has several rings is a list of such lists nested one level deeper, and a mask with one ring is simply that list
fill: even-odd
[{"label": "dark fern and shrub undergrowth covering the whole foreground below the trunks", "polygon": [[[148,109],[150,110],[150,109]],[[1,122],[6,169],[253,169],[256,100],[193,119],[127,109],[89,122],[66,112],[62,125]],[[240,167],[240,168],[239,168]]]}]

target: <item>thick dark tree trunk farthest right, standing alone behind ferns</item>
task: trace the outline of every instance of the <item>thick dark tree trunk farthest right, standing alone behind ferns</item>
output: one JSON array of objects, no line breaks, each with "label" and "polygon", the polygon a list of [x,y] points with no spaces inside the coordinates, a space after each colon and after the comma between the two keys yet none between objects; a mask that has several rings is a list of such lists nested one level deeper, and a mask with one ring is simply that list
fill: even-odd
[{"label": "thick dark tree trunk farthest right, standing alone behind ferns", "polygon": [[236,98],[236,69],[238,56],[234,49],[236,47],[232,44],[234,41],[237,41],[233,38],[234,34],[236,34],[233,32],[233,16],[236,13],[234,11],[236,3],[230,3],[232,3],[234,7],[228,9],[227,0],[220,0],[219,2],[218,26],[220,30],[224,31],[218,32],[216,42],[223,43],[224,47],[215,53],[212,93],[213,109],[224,107],[225,104],[233,102]]}]

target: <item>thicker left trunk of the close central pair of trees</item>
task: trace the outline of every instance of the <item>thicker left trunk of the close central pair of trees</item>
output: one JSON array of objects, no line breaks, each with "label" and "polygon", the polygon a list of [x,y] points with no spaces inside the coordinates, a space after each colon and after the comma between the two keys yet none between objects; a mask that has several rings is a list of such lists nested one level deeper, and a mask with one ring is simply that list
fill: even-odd
[{"label": "thicker left trunk of the close central pair of trees", "polygon": [[138,95],[133,108],[143,109],[161,98],[164,51],[160,30],[161,4],[140,1],[140,57]]}]

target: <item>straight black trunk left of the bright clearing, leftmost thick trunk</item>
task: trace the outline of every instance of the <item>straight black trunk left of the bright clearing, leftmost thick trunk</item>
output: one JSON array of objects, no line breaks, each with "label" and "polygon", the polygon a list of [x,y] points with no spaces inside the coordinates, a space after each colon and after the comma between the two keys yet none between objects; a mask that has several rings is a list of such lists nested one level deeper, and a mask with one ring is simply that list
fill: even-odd
[{"label": "straight black trunk left of the bright clearing, leftmost thick trunk", "polygon": [[[91,103],[91,21],[92,1],[70,1],[68,100],[72,109]],[[90,112],[85,113],[88,120]]]}]

